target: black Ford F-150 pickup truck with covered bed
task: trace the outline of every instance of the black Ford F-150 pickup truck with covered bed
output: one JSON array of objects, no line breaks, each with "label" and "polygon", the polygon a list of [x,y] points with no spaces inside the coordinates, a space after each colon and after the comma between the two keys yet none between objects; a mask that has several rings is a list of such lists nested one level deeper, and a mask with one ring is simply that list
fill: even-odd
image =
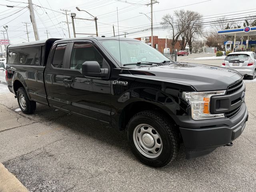
[{"label": "black Ford F-150 pickup truck with covered bed", "polygon": [[165,166],[232,145],[246,125],[243,76],[172,62],[128,38],[48,39],[8,46],[8,88],[22,112],[36,103],[126,130],[134,155]]}]

